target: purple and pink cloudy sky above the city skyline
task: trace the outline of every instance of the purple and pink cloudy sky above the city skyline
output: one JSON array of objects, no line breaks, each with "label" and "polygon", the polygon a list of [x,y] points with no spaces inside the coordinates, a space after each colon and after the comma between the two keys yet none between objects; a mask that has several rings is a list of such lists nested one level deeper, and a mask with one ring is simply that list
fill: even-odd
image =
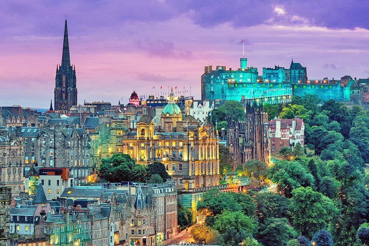
[{"label": "purple and pink cloudy sky above the city skyline", "polygon": [[161,85],[200,97],[207,65],[307,67],[309,79],[369,77],[369,3],[325,1],[4,1],[0,105],[48,108],[68,15],[78,102],[127,102]]}]

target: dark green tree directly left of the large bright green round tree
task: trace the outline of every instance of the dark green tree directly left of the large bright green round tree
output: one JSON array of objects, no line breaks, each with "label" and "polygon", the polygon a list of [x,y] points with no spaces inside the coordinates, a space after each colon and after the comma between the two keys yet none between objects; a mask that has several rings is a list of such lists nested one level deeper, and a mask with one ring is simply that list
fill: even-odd
[{"label": "dark green tree directly left of the large bright green round tree", "polygon": [[287,218],[290,201],[283,195],[263,192],[255,197],[255,216],[260,223],[268,218]]}]

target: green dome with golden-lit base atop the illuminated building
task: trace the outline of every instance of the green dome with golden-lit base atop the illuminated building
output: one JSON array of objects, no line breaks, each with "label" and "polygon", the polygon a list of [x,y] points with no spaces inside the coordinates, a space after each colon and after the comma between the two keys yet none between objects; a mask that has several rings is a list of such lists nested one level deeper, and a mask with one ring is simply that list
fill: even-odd
[{"label": "green dome with golden-lit base atop the illuminated building", "polygon": [[182,112],[177,105],[178,98],[173,93],[173,88],[167,97],[168,104],[165,105],[161,114],[161,129],[165,132],[177,131],[177,122],[182,121]]}]

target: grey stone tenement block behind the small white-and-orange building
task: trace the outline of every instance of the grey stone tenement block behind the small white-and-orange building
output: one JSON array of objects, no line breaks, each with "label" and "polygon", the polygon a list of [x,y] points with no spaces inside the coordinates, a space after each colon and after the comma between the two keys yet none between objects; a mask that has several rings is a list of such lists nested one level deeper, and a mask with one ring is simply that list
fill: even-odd
[{"label": "grey stone tenement block behind the small white-and-orange building", "polygon": [[90,174],[89,134],[86,129],[61,124],[62,121],[65,123],[64,119],[55,119],[49,120],[43,127],[17,129],[17,137],[25,146],[24,163],[69,168],[75,184],[87,182]]}]

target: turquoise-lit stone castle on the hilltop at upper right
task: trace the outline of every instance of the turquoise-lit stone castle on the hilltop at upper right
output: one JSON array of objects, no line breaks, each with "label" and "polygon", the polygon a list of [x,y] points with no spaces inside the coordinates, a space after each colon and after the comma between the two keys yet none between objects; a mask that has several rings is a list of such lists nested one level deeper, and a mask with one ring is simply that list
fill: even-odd
[{"label": "turquoise-lit stone castle on the hilltop at upper right", "polygon": [[306,67],[291,62],[290,68],[275,66],[263,68],[259,76],[257,68],[247,67],[247,59],[241,58],[241,68],[226,70],[225,66],[206,66],[201,76],[202,100],[233,100],[243,99],[265,100],[268,103],[279,103],[283,98],[315,94],[321,100],[350,100],[350,87],[354,80],[344,76],[341,80],[309,81]]}]

